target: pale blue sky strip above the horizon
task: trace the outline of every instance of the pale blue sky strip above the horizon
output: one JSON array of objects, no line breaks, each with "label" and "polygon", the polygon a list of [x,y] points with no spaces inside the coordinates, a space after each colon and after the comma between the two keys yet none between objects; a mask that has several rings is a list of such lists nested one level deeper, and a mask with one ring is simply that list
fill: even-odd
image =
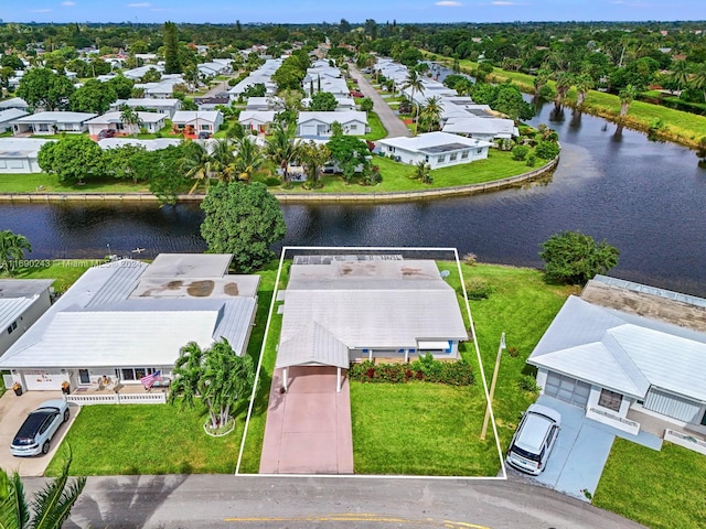
[{"label": "pale blue sky strip above the horizon", "polygon": [[4,22],[705,20],[706,0],[0,0]]}]

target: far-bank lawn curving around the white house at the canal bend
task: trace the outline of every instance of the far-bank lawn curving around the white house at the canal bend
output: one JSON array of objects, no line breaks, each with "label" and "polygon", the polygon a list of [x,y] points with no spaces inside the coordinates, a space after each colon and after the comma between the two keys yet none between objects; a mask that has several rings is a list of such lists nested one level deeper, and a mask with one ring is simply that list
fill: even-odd
[{"label": "far-bank lawn curving around the white house at the canal bend", "polygon": [[[321,194],[321,193],[399,193],[409,191],[435,190],[466,184],[492,182],[510,176],[516,176],[530,171],[525,162],[512,159],[510,152],[490,149],[488,160],[478,160],[472,163],[453,165],[450,168],[435,169],[431,171],[434,182],[424,184],[413,179],[414,165],[395,162],[389,158],[376,156],[373,163],[379,168],[383,176],[382,183],[374,186],[346,185],[341,175],[323,175],[319,190],[304,190],[301,184],[295,184],[291,190],[282,193]],[[538,164],[537,164],[538,165]],[[277,192],[280,192],[277,190]]]}]

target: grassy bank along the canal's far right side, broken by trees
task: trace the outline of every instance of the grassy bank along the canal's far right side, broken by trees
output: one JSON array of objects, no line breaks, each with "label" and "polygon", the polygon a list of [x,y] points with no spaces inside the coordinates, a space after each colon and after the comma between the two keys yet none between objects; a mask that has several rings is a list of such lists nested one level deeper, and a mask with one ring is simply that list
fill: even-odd
[{"label": "grassy bank along the canal's far right side, broken by trees", "polygon": [[[425,53],[425,55],[430,56],[431,54]],[[450,57],[437,55],[437,61],[448,66],[453,64],[453,60]],[[463,73],[470,74],[478,67],[478,63],[462,60],[460,61],[460,66]],[[493,83],[510,80],[517,85],[522,91],[534,94],[534,76],[532,75],[493,68],[490,80]],[[549,86],[555,86],[553,80],[549,82]],[[576,89],[569,90],[567,104],[570,106],[576,105]],[[590,90],[581,109],[611,121],[620,120],[620,98],[612,94]],[[661,120],[662,123],[655,128],[656,120]],[[643,101],[633,101],[630,105],[628,116],[622,122],[632,129],[652,132],[660,139],[687,147],[696,147],[700,139],[706,137],[706,116],[674,110]]]}]

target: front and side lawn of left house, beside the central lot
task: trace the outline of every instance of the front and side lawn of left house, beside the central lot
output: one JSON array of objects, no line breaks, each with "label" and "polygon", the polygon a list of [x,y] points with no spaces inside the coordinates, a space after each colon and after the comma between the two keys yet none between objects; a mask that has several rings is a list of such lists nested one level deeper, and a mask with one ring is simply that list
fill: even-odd
[{"label": "front and side lawn of left house, beside the central lot", "polygon": [[[258,309],[247,352],[256,363],[274,292],[277,266],[278,262],[272,261],[265,270],[258,272],[261,278]],[[268,373],[271,373],[274,361],[272,356]],[[258,427],[258,420],[263,421],[263,432],[270,380],[267,373],[260,378],[256,415],[250,421],[250,425],[255,428]],[[202,428],[206,421],[205,409],[180,411],[179,404],[87,406],[76,417],[63,443],[71,445],[74,455],[72,473],[76,475],[229,474],[235,471],[246,411],[245,406],[238,409],[235,431],[224,438],[211,438]],[[169,446],[169,450],[164,450],[164,446]],[[257,452],[254,471],[257,472],[261,436],[256,447],[250,446],[252,452]],[[63,453],[64,450],[57,451],[46,471],[47,476],[58,474]]]}]

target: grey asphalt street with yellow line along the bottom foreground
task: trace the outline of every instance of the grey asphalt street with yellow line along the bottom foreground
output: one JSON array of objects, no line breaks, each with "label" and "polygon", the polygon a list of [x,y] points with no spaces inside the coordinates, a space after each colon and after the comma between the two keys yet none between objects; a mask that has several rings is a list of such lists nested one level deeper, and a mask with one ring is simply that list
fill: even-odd
[{"label": "grey asphalt street with yellow line along the bottom foreground", "polygon": [[[25,478],[28,490],[41,478]],[[633,529],[520,482],[169,475],[89,477],[65,528],[421,527]]]}]

